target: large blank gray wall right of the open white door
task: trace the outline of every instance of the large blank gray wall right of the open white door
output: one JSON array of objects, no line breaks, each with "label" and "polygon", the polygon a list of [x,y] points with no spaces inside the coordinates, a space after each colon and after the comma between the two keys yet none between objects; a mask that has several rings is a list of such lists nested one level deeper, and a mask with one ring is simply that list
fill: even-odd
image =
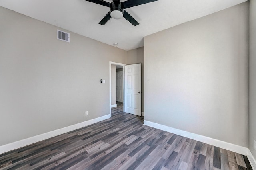
[{"label": "large blank gray wall right of the open white door", "polygon": [[144,38],[145,120],[248,147],[248,2]]}]

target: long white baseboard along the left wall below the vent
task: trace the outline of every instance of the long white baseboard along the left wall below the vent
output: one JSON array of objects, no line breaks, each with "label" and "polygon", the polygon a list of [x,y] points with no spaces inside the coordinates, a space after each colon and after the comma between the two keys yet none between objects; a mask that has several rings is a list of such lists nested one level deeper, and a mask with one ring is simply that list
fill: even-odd
[{"label": "long white baseboard along the left wall below the vent", "polygon": [[91,119],[91,120],[88,120],[88,121],[77,123],[75,125],[71,125],[71,126],[68,126],[68,127],[63,127],[61,129],[57,129],[57,130],[54,130],[54,131],[50,131],[50,132],[47,132],[47,133],[43,133],[43,134],[40,134],[40,135],[36,135],[36,136],[33,136],[33,137],[22,139],[20,141],[16,141],[16,142],[13,142],[13,143],[8,143],[6,145],[2,145],[2,146],[0,146],[0,154],[11,151],[11,150],[14,150],[14,149],[18,149],[20,147],[30,145],[32,143],[36,143],[36,142],[39,142],[39,141],[42,141],[42,140],[45,140],[45,139],[48,139],[48,138],[51,138],[51,137],[55,137],[55,136],[61,135],[63,133],[74,131],[76,129],[79,129],[79,128],[82,128],[82,127],[85,127],[85,126],[88,126],[88,125],[92,125],[94,123],[109,119],[110,117],[111,117],[111,115],[105,115],[105,116],[102,116],[102,117],[98,117],[98,118],[95,118],[95,119]]}]

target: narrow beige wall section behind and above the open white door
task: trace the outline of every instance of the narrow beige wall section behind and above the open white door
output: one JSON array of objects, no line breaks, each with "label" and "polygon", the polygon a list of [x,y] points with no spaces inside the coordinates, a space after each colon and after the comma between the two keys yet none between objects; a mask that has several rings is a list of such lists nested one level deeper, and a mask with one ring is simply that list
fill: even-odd
[{"label": "narrow beige wall section behind and above the open white door", "polygon": [[141,111],[144,112],[144,47],[127,51],[126,64],[141,63]]}]

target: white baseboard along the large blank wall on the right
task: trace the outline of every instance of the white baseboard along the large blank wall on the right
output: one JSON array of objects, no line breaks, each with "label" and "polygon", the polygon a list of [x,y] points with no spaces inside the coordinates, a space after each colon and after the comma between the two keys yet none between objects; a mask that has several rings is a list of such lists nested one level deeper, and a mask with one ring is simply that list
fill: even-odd
[{"label": "white baseboard along the large blank wall on the right", "polygon": [[180,129],[175,129],[175,128],[168,127],[168,126],[165,126],[165,125],[160,125],[158,123],[154,123],[154,122],[151,122],[151,121],[145,121],[144,120],[144,125],[154,127],[156,129],[160,129],[160,130],[163,130],[163,131],[167,131],[167,132],[170,132],[170,133],[174,133],[176,135],[180,135],[180,136],[187,137],[187,138],[190,138],[190,139],[194,139],[196,141],[200,141],[200,142],[203,142],[203,143],[214,145],[216,147],[220,147],[220,148],[223,148],[223,149],[226,149],[226,150],[230,150],[230,151],[233,151],[233,152],[236,152],[236,153],[239,153],[239,154],[248,155],[248,148],[246,148],[246,147],[242,147],[242,146],[235,145],[235,144],[232,144],[232,143],[228,143],[228,142],[225,142],[225,141],[220,141],[218,139],[213,139],[213,138],[210,138],[210,137],[198,135],[198,134],[195,134],[195,133],[182,131]]}]

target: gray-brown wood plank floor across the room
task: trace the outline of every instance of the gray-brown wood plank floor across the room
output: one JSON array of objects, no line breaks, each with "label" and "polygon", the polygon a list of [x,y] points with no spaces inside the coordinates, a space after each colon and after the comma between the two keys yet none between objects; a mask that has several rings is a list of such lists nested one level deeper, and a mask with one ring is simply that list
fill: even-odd
[{"label": "gray-brown wood plank floor across the room", "polygon": [[0,169],[252,170],[246,156],[143,125],[112,108],[105,121],[0,155]]}]

